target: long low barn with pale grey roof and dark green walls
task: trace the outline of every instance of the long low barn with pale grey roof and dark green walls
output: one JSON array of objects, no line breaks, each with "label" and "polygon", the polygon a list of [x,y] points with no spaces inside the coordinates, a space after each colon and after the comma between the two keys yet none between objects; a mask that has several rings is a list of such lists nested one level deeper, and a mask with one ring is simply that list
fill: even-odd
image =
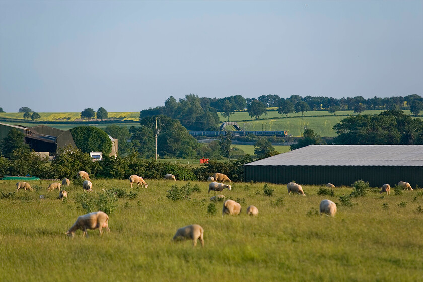
[{"label": "long low barn with pale grey roof and dark green walls", "polygon": [[423,145],[310,145],[244,165],[244,181],[423,187]]}]

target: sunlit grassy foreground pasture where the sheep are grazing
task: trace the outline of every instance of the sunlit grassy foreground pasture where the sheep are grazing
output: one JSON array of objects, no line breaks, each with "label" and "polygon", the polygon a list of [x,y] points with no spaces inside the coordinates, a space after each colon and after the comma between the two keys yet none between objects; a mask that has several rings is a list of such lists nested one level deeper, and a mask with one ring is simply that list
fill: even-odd
[{"label": "sunlit grassy foreground pasture where the sheep are grazing", "polygon": [[[48,181],[32,181],[38,192],[18,191],[0,199],[1,281],[420,281],[423,277],[421,221],[423,196],[370,192],[354,198],[353,207],[338,204],[334,218],[317,215],[319,203],[351,188],[335,188],[335,196],[318,196],[317,186],[304,186],[307,197],[287,195],[286,186],[235,183],[223,194],[242,205],[240,216],[221,215],[222,203],[207,213],[208,183],[194,182],[201,192],[173,202],[166,191],[173,183],[147,180],[135,198],[121,198],[110,214],[110,233],[64,232],[86,212],[76,202],[82,188],[68,187],[66,202],[48,193]],[[177,182],[178,186],[186,182]],[[89,197],[102,188],[130,191],[127,180],[93,180]],[[15,181],[0,181],[4,194]],[[40,199],[40,195],[45,199]],[[257,217],[245,214],[248,205]],[[177,228],[204,228],[205,247],[173,243]]]}]

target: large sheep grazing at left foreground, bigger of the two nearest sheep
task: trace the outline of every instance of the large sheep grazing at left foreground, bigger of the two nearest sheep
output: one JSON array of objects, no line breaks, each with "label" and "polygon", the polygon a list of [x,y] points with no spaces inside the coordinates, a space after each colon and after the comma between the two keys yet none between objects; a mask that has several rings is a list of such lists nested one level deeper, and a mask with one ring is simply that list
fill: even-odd
[{"label": "large sheep grazing at left foreground, bigger of the two nearest sheep", "polygon": [[89,214],[85,214],[79,216],[77,221],[74,223],[73,226],[69,228],[69,230],[65,233],[67,236],[74,237],[75,231],[81,229],[84,231],[86,237],[88,237],[87,229],[96,229],[100,235],[103,234],[103,227],[106,228],[107,231],[110,232],[109,229],[109,216],[105,212],[92,212]]}]

